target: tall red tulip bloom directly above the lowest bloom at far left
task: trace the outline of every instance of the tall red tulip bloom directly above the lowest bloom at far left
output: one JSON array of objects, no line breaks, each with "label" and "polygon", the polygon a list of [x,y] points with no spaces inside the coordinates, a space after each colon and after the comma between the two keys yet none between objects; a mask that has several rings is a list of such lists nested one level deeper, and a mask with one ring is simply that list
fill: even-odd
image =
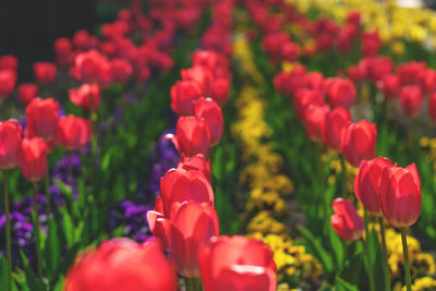
[{"label": "tall red tulip bloom directly above the lowest bloom at far left", "polygon": [[50,142],[58,135],[59,104],[53,98],[33,99],[26,107],[29,136]]}]

